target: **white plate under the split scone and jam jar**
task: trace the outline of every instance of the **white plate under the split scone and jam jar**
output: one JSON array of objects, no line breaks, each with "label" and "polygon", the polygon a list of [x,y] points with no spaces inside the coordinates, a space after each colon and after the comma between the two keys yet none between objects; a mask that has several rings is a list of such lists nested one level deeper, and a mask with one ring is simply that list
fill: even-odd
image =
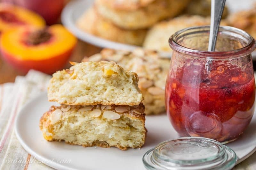
[{"label": "white plate under the split scone and jam jar", "polygon": [[[144,169],[143,154],[158,143],[178,137],[166,115],[147,116],[148,134],[145,145],[139,149],[121,151],[117,148],[100,148],[69,145],[64,142],[47,142],[40,131],[39,119],[50,106],[56,103],[47,101],[42,93],[28,102],[18,114],[15,132],[24,149],[48,166],[56,169],[91,169],[91,170],[135,170]],[[256,148],[256,117],[244,134],[235,142],[227,144],[238,156],[238,162],[249,157]],[[66,163],[60,163],[66,161]],[[70,162],[69,162],[70,161]],[[68,162],[68,163],[67,163]]]}]

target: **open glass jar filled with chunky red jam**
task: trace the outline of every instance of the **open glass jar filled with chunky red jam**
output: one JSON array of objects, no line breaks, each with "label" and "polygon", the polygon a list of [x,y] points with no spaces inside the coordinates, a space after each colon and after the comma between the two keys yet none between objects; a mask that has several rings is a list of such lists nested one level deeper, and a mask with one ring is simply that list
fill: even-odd
[{"label": "open glass jar filled with chunky red jam", "polygon": [[165,105],[181,137],[228,143],[243,133],[254,113],[255,40],[240,29],[220,26],[216,49],[209,52],[209,30],[189,27],[169,39],[173,54]]}]

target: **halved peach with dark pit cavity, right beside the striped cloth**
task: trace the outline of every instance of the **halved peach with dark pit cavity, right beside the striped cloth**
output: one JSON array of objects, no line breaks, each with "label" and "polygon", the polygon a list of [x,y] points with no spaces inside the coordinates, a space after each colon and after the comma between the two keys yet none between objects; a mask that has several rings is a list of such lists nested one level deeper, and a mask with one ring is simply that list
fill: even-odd
[{"label": "halved peach with dark pit cavity, right beside the striped cloth", "polygon": [[76,42],[62,25],[22,26],[2,34],[0,50],[8,63],[23,72],[35,69],[52,74],[64,67]]}]

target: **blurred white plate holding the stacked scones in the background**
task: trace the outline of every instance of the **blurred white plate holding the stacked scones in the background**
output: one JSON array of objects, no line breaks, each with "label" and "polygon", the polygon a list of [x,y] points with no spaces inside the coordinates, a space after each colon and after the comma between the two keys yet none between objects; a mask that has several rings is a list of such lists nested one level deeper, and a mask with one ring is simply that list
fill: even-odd
[{"label": "blurred white plate holding the stacked scones in the background", "polygon": [[[123,50],[133,50],[139,46],[133,46],[129,44],[118,43],[114,41],[109,41],[97,36],[94,36],[90,33],[85,33],[76,27],[76,20],[86,11],[90,6],[92,6],[94,0],[73,0],[66,5],[61,13],[61,21],[63,25],[72,32],[77,38],[82,41],[88,42],[98,47],[102,48],[112,48],[112,49],[123,49]],[[234,1],[236,1],[234,3]],[[232,12],[237,11],[238,9],[248,9],[250,4],[255,3],[256,0],[246,0],[247,3],[241,0],[227,0],[227,5],[229,6]],[[240,5],[238,5],[240,4]],[[237,8],[241,7],[241,8]],[[166,35],[171,36],[171,35]],[[168,43],[168,42],[166,42]],[[170,58],[172,52],[161,52],[161,55]],[[253,59],[256,59],[256,51],[253,52]]]}]

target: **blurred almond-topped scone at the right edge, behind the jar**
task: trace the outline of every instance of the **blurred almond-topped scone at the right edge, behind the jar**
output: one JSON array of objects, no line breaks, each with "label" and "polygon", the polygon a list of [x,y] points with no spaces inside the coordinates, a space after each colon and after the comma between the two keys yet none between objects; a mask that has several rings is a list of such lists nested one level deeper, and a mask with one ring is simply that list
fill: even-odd
[{"label": "blurred almond-topped scone at the right edge, behind the jar", "polygon": [[230,26],[242,29],[256,39],[256,5],[251,10],[231,14],[228,22]]}]

